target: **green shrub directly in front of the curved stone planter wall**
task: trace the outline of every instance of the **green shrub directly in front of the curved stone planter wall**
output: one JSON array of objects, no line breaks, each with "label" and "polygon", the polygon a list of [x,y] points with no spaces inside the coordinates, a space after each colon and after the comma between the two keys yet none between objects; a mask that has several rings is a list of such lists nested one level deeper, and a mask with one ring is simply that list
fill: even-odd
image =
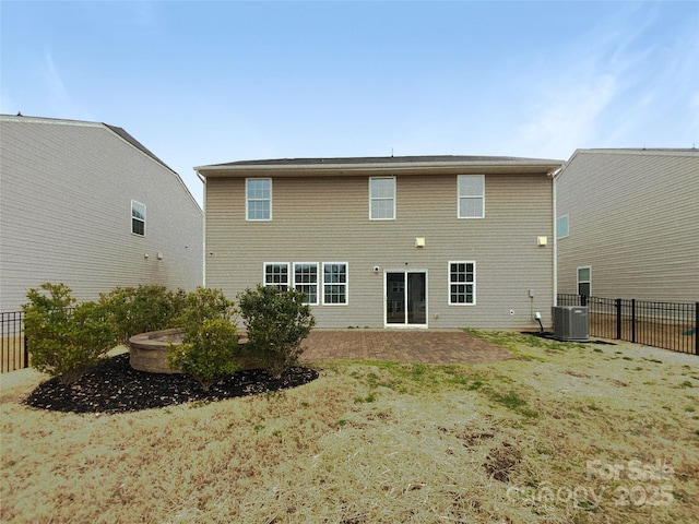
[{"label": "green shrub directly in front of the curved stone planter wall", "polygon": [[191,374],[209,391],[221,377],[240,369],[237,349],[236,326],[221,318],[206,319],[186,331],[182,344],[169,345],[167,364]]}]

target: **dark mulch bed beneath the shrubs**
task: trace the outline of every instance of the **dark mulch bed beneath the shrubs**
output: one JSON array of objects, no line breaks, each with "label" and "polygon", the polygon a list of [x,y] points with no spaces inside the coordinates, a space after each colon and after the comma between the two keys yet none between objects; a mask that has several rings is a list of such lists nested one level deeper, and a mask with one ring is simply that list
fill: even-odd
[{"label": "dark mulch bed beneath the shrubs", "polygon": [[209,391],[187,374],[162,374],[137,371],[129,366],[129,355],[118,355],[98,364],[81,379],[63,385],[57,378],[39,384],[24,401],[43,409],[74,413],[122,413],[187,402],[215,402],[236,396],[307,384],[318,372],[303,367],[287,370],[280,379],[254,369],[238,371],[213,384]]}]

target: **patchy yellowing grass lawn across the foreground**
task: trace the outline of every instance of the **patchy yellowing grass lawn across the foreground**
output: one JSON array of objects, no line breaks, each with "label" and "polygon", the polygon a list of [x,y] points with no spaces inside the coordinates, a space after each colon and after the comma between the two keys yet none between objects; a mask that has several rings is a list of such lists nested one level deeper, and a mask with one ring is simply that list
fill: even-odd
[{"label": "patchy yellowing grass lawn across the foreground", "polygon": [[697,357],[473,333],[517,358],[324,361],[303,388],[121,415],[31,409],[44,377],[2,376],[0,521],[696,522]]}]

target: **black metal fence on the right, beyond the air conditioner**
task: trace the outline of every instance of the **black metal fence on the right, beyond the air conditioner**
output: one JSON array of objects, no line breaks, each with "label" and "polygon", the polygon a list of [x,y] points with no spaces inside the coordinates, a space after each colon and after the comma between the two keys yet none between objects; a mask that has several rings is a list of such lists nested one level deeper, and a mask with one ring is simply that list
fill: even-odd
[{"label": "black metal fence on the right, beyond the air conditioner", "polygon": [[699,302],[558,294],[558,306],[587,306],[592,336],[699,355]]}]

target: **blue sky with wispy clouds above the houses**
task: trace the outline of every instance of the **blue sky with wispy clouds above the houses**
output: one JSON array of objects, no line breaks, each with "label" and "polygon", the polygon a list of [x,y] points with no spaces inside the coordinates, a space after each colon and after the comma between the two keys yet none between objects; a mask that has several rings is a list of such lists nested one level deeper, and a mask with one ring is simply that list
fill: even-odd
[{"label": "blue sky with wispy clouds above the houses", "polygon": [[125,128],[180,174],[699,146],[699,2],[0,2],[0,112]]}]

